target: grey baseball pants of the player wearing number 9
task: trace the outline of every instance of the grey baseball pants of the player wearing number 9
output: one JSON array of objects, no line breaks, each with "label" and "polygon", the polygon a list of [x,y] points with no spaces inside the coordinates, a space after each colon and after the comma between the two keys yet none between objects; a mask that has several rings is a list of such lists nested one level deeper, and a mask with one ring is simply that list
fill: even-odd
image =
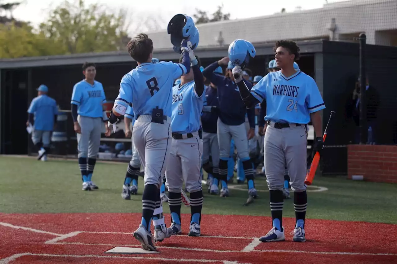
[{"label": "grey baseball pants of the player wearing number 9", "polygon": [[172,139],[170,159],[166,169],[168,191],[179,193],[185,182],[189,193],[201,187],[202,140],[199,136],[182,140]]}]

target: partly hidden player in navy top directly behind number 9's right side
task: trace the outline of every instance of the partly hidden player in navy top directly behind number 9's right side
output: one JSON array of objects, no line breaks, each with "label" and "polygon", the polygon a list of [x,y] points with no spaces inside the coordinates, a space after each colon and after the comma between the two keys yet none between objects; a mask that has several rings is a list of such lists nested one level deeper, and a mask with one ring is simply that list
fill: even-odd
[{"label": "partly hidden player in navy top directly behind number 9's right side", "polygon": [[[215,74],[223,75],[222,68],[219,66],[214,70]],[[210,82],[206,87],[204,107],[201,115],[202,126],[202,168],[208,174],[208,192],[212,183],[218,186],[218,165],[219,165],[219,145],[218,135],[216,134],[216,122],[218,121],[219,100],[216,85]],[[211,157],[211,161],[210,161]],[[214,177],[214,175],[216,175]],[[215,182],[213,182],[215,181]]]}]

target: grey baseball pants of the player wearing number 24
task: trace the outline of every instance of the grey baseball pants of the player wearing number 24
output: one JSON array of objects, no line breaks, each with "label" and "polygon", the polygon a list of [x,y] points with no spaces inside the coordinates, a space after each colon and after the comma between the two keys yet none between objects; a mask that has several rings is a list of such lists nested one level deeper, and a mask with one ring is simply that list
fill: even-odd
[{"label": "grey baseball pants of the player wearing number 24", "polygon": [[307,140],[305,126],[290,124],[289,128],[267,126],[264,138],[264,166],[270,190],[282,190],[287,166],[293,191],[305,191]]}]

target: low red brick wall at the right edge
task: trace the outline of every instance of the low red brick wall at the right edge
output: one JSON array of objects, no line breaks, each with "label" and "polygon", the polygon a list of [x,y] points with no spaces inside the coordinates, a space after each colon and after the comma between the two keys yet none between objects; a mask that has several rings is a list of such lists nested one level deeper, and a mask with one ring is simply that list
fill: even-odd
[{"label": "low red brick wall at the right edge", "polygon": [[347,173],[370,182],[397,183],[397,146],[348,145]]}]

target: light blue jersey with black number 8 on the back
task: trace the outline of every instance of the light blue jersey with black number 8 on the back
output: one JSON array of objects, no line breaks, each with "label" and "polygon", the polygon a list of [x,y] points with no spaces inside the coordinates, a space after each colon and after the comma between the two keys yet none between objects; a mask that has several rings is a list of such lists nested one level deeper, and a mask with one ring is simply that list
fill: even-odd
[{"label": "light blue jersey with black number 8 on the back", "polygon": [[115,103],[125,107],[133,104],[134,116],[151,115],[156,107],[164,115],[172,115],[172,86],[174,80],[186,74],[186,67],[172,61],[142,63],[124,75]]}]

